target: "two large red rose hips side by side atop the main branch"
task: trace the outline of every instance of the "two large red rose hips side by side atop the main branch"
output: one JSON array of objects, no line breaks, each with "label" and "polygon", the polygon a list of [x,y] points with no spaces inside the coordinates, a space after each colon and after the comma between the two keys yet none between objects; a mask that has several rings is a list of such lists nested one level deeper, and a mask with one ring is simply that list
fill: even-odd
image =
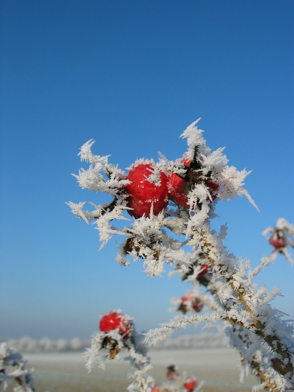
[{"label": "two large red rose hips side by side atop the main branch", "polygon": [[[190,162],[182,160],[182,163],[189,171]],[[180,177],[171,171],[160,172],[160,181],[156,184],[148,180],[153,170],[152,163],[140,163],[133,166],[127,174],[126,180],[131,181],[125,187],[125,191],[129,194],[127,206],[131,207],[127,210],[129,214],[135,219],[141,218],[143,214],[149,218],[151,208],[153,208],[153,214],[158,215],[167,207],[170,199],[189,208],[187,194],[191,186],[185,176]],[[219,184],[211,179],[201,182],[209,189],[210,197],[207,200],[211,203],[217,197]]]}]

